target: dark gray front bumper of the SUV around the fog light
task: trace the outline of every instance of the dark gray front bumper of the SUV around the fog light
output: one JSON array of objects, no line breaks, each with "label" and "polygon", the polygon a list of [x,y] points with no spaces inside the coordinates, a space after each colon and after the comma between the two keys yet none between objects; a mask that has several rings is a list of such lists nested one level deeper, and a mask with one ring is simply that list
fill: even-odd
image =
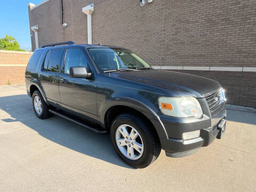
[{"label": "dark gray front bumper of the SUV around the fog light", "polygon": [[[201,147],[210,145],[214,139],[220,137],[219,125],[223,122],[226,124],[226,103],[223,103],[215,116],[207,114],[201,119],[160,116],[160,119],[168,137],[168,139],[160,138],[166,156],[183,157],[195,153]],[[198,138],[182,140],[182,133],[196,130],[200,130]]]}]

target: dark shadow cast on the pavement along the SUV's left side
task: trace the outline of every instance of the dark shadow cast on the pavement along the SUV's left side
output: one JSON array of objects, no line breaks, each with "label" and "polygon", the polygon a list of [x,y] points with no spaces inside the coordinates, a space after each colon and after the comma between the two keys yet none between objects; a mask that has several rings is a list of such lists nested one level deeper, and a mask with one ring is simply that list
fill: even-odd
[{"label": "dark shadow cast on the pavement along the SUV's left side", "polygon": [[134,169],[118,157],[109,134],[94,133],[54,115],[48,119],[39,119],[34,114],[31,98],[26,94],[0,97],[0,109],[11,116],[8,118],[2,116],[4,122],[21,122],[38,132],[42,137],[59,145],[108,163]]}]

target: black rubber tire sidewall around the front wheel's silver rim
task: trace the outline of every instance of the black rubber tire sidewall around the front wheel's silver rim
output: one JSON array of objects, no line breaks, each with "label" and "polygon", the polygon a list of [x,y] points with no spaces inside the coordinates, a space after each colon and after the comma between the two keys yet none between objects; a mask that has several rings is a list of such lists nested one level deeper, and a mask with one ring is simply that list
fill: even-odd
[{"label": "black rubber tire sidewall around the front wheel's silver rim", "polygon": [[[122,152],[119,150],[117,143],[116,143],[116,130],[117,128],[122,125],[122,124],[127,124],[127,125],[131,125],[133,126],[140,134],[141,139],[143,141],[143,154],[139,159],[136,160],[132,160],[129,159],[127,157],[125,157]],[[111,125],[110,128],[110,135],[111,135],[111,141],[113,143],[113,146],[117,152],[117,154],[129,165],[134,166],[134,167],[138,167],[138,168],[142,168],[145,167],[145,163],[149,161],[149,159],[151,158],[151,154],[153,151],[153,146],[151,145],[150,141],[149,141],[149,137],[148,135],[145,133],[145,131],[143,131],[143,127],[145,126],[145,124],[143,124],[142,122],[140,122],[140,119],[137,118],[133,118],[129,115],[125,116],[125,115],[121,115],[118,116],[115,121],[113,122],[113,124]]]}]

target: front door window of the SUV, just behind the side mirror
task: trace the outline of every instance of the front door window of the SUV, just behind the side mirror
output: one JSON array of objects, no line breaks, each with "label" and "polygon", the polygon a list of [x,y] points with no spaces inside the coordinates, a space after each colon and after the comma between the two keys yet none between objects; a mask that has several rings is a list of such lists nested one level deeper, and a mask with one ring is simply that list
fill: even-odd
[{"label": "front door window of the SUV, just behind the side mirror", "polygon": [[79,49],[68,49],[65,60],[64,73],[69,74],[70,67],[84,66],[87,69],[87,58]]}]

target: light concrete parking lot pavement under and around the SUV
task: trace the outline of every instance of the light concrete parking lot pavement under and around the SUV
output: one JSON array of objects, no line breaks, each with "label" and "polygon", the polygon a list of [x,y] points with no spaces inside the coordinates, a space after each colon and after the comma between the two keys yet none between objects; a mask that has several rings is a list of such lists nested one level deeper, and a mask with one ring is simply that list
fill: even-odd
[{"label": "light concrete parking lot pavement under and around the SUV", "polygon": [[227,111],[222,140],[133,169],[100,135],[38,119],[25,85],[0,86],[0,191],[256,191],[256,114]]}]

